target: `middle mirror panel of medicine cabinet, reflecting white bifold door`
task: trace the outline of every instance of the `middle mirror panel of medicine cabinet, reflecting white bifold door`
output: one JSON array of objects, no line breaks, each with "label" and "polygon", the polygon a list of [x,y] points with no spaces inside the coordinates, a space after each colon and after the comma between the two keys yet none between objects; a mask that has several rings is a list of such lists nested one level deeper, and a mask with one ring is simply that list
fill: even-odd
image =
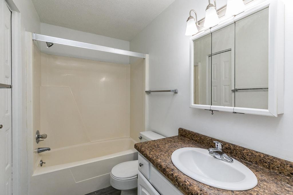
[{"label": "middle mirror panel of medicine cabinet, reflecting white bifold door", "polygon": [[212,33],[212,55],[209,56],[212,106],[234,107],[234,35],[234,23]]}]

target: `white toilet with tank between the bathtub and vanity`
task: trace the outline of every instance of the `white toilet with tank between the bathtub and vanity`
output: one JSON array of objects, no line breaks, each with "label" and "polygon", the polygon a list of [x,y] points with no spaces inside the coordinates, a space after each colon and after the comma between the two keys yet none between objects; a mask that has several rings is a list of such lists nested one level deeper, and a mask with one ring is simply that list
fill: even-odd
[{"label": "white toilet with tank between the bathtub and vanity", "polygon": [[[140,142],[165,138],[153,131],[143,131],[139,135]],[[137,171],[138,160],[127,161],[116,165],[110,173],[111,186],[121,190],[121,195],[137,194]]]}]

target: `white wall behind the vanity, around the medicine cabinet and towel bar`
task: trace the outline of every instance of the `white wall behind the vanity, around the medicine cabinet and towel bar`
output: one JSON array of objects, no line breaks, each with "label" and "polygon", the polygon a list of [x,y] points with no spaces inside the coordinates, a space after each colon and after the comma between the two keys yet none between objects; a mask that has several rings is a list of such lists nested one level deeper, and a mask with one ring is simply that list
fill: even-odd
[{"label": "white wall behind the vanity, around the medicine cabinet and towel bar", "polygon": [[[293,2],[285,2],[285,114],[265,117],[211,112],[189,108],[189,38],[185,36],[190,9],[204,17],[206,1],[176,0],[131,42],[130,49],[149,54],[151,90],[179,89],[178,94],[149,95],[149,130],[164,136],[178,134],[178,127],[293,161]],[[226,4],[218,0],[218,7]]]}]

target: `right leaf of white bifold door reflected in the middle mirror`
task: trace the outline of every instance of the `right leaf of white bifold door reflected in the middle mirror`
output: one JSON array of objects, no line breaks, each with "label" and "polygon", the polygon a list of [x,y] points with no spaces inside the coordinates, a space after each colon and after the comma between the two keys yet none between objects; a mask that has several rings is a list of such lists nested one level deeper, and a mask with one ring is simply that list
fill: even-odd
[{"label": "right leaf of white bifold door reflected in the middle mirror", "polygon": [[221,106],[232,106],[231,51],[220,53]]}]

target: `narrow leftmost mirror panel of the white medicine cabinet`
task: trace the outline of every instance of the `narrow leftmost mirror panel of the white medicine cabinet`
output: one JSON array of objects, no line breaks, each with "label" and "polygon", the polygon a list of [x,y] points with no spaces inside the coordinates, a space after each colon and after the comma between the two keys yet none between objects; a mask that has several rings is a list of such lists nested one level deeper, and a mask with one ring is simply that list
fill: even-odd
[{"label": "narrow leftmost mirror panel of the white medicine cabinet", "polygon": [[212,35],[205,35],[193,42],[193,104],[211,105],[211,69],[209,56]]}]

